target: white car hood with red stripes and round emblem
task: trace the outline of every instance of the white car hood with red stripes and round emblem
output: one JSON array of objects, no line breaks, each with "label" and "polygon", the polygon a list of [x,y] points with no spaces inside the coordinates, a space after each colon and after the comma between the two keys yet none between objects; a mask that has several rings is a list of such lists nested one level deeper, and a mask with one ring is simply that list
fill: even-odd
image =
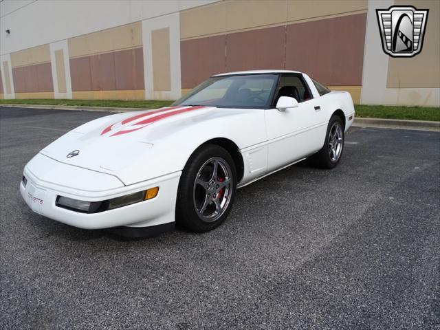
[{"label": "white car hood with red stripes and round emblem", "polygon": [[[159,173],[158,170],[153,173],[148,168],[148,163],[153,163],[148,159],[154,158],[157,162],[157,157],[161,157],[162,162],[172,161],[166,155],[172,151],[165,150],[161,144],[177,138],[173,137],[177,132],[239,113],[243,113],[243,110],[215,107],[167,107],[154,111],[118,113],[79,126],[40,153],[58,162],[116,175],[124,184],[132,184]],[[173,144],[166,145],[169,148]],[[157,148],[159,151],[155,150]],[[144,164],[145,173],[139,179],[133,179],[133,173],[128,173],[133,171],[131,165],[136,162]]]}]

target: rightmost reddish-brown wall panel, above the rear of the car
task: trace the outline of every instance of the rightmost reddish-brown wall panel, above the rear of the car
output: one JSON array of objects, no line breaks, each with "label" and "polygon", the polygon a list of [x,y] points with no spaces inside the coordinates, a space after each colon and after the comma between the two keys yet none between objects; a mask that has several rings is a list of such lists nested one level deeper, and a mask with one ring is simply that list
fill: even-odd
[{"label": "rightmost reddish-brown wall panel, above the rear of the car", "polygon": [[326,85],[361,85],[365,26],[366,14],[287,25],[286,69]]}]

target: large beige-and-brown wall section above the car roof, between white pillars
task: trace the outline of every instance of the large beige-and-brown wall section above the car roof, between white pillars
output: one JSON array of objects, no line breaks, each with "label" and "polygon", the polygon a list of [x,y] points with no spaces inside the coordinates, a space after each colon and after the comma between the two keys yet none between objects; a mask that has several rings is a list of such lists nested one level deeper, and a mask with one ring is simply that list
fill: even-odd
[{"label": "large beige-and-brown wall section above the car roof, between white pillars", "polygon": [[[182,94],[186,93],[190,87],[201,83],[201,80],[208,78],[210,74],[240,69],[300,70],[303,67],[309,68],[310,65],[307,62],[311,61],[311,58],[317,61],[317,55],[320,52],[309,54],[308,59],[303,58],[300,48],[289,44],[298,39],[298,36],[292,31],[305,30],[307,40],[314,40],[316,43],[318,39],[316,39],[314,31],[322,30],[322,25],[316,25],[314,22],[362,15],[366,14],[366,9],[366,0],[226,0],[184,10],[180,12],[182,87],[184,87]],[[362,17],[359,19],[356,17],[355,21],[362,21]],[[344,34],[341,38],[344,38],[347,33],[354,34],[355,31],[364,30],[362,24],[353,26],[351,23],[328,22],[325,24],[329,25],[330,30],[339,29],[340,25],[349,25],[349,28],[340,30],[341,34]],[[304,23],[309,24],[303,26]],[[298,25],[297,29],[295,24],[301,25]],[[355,77],[362,77],[363,36],[364,34],[362,34],[360,42],[352,45],[351,56],[357,57],[354,61],[352,61],[353,58],[347,61],[352,62],[355,66],[351,71],[352,68],[347,65],[347,70],[350,70],[352,76]],[[331,36],[329,35],[329,37]],[[356,41],[359,40],[356,39]],[[248,45],[248,42],[254,43],[257,49]],[[351,40],[349,39],[348,42]],[[302,43],[302,45],[307,45],[307,43]],[[260,49],[258,49],[259,47]],[[287,53],[286,48],[289,51]],[[320,45],[314,44],[314,48],[320,49]],[[304,49],[305,47],[302,48],[302,50]],[[345,61],[339,54],[333,54],[334,51],[329,48],[330,54],[325,57],[328,59],[338,56],[336,61]],[[292,52],[296,54],[294,61],[285,57],[292,56]],[[199,54],[200,58],[194,54]],[[319,56],[323,56],[323,54]],[[300,61],[296,61],[298,58]],[[327,67],[329,65],[331,63],[325,63]],[[331,73],[324,72],[325,68],[320,63],[316,63],[314,68],[318,72],[318,76],[333,83],[330,85],[331,89],[349,91],[353,100],[357,103],[360,102],[362,78],[351,80],[338,78],[338,76],[343,76],[339,74],[342,71],[339,68],[337,69],[338,74],[333,74],[332,78]],[[310,74],[310,72],[308,73]],[[353,84],[353,81],[356,83]]]}]

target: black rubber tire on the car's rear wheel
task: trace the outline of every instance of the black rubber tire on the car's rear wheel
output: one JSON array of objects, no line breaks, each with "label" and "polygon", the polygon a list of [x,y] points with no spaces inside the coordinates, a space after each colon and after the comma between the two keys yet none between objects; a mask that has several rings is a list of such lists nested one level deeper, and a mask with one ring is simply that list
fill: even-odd
[{"label": "black rubber tire on the car's rear wheel", "polygon": [[[332,139],[330,137],[330,134],[333,133],[333,127],[335,127],[335,125],[340,127],[340,133],[342,136],[342,143],[340,144],[340,152],[338,153],[338,157],[333,157],[332,155],[334,154],[330,151],[332,146]],[[329,120],[329,126],[327,126],[327,134],[325,135],[324,146],[322,146],[321,150],[318,151],[318,153],[311,157],[313,164],[319,168],[336,167],[342,158],[342,153],[344,151],[344,141],[344,123],[342,122],[342,119],[339,115],[333,115]],[[336,158],[336,160],[334,158]]]}]

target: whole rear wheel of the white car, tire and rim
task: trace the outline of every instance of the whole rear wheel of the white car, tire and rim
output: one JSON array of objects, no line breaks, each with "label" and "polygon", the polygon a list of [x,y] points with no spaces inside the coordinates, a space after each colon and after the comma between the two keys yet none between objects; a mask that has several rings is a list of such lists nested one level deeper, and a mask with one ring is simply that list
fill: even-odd
[{"label": "whole rear wheel of the white car, tire and rim", "polygon": [[338,115],[330,118],[325,144],[312,158],[320,168],[333,168],[340,162],[344,150],[344,124]]}]

